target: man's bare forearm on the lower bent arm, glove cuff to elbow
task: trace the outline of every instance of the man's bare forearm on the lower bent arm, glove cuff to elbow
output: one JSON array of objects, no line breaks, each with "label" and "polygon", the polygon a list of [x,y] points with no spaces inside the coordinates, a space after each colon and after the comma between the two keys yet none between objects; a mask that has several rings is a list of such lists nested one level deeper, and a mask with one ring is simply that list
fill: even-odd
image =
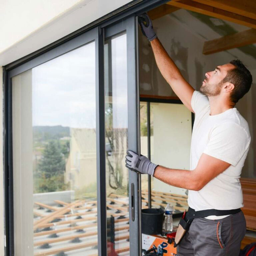
[{"label": "man's bare forearm on the lower bent arm, glove cuff to elbow", "polygon": [[201,189],[200,178],[193,171],[170,169],[158,165],[155,169],[154,177],[175,187],[196,191]]}]

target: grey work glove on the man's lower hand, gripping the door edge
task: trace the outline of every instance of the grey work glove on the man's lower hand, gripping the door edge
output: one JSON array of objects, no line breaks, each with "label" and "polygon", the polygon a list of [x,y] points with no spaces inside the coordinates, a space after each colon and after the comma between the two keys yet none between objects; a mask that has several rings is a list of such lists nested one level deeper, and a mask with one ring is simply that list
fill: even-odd
[{"label": "grey work glove on the man's lower hand, gripping the door edge", "polygon": [[140,174],[150,174],[154,177],[157,164],[153,164],[147,157],[138,155],[132,150],[126,151],[125,167]]}]

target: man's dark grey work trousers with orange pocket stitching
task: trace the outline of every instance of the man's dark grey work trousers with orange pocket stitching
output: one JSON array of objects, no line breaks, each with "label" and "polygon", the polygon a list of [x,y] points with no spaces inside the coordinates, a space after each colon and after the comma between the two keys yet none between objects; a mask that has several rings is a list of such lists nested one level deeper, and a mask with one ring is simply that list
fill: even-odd
[{"label": "man's dark grey work trousers with orange pocket stitching", "polygon": [[228,217],[194,219],[177,247],[178,256],[238,256],[246,233],[242,211]]}]

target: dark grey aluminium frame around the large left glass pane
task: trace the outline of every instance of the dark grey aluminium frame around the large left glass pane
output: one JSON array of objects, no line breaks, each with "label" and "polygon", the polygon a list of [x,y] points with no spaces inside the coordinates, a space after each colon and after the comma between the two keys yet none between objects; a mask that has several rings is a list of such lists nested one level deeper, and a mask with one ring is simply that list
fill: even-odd
[{"label": "dark grey aluminium frame around the large left glass pane", "polygon": [[[95,42],[95,93],[96,93],[96,166],[97,166],[97,226],[98,254],[106,255],[106,182],[105,182],[105,116],[104,116],[104,36],[103,29],[96,27],[44,54],[4,72],[4,196],[5,196],[5,255],[14,252],[14,205],[13,205],[13,154],[12,154],[12,77],[44,62],[52,60],[90,42]],[[103,171],[102,171],[103,170]],[[105,209],[105,210],[104,210]]]}]

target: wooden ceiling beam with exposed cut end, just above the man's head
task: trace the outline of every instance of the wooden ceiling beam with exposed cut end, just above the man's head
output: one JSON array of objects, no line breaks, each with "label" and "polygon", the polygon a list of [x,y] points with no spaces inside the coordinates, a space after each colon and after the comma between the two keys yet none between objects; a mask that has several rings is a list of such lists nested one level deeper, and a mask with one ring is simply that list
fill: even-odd
[{"label": "wooden ceiling beam with exposed cut end, just above the man's head", "polygon": [[203,54],[221,52],[254,43],[256,43],[256,29],[249,29],[204,42]]}]

